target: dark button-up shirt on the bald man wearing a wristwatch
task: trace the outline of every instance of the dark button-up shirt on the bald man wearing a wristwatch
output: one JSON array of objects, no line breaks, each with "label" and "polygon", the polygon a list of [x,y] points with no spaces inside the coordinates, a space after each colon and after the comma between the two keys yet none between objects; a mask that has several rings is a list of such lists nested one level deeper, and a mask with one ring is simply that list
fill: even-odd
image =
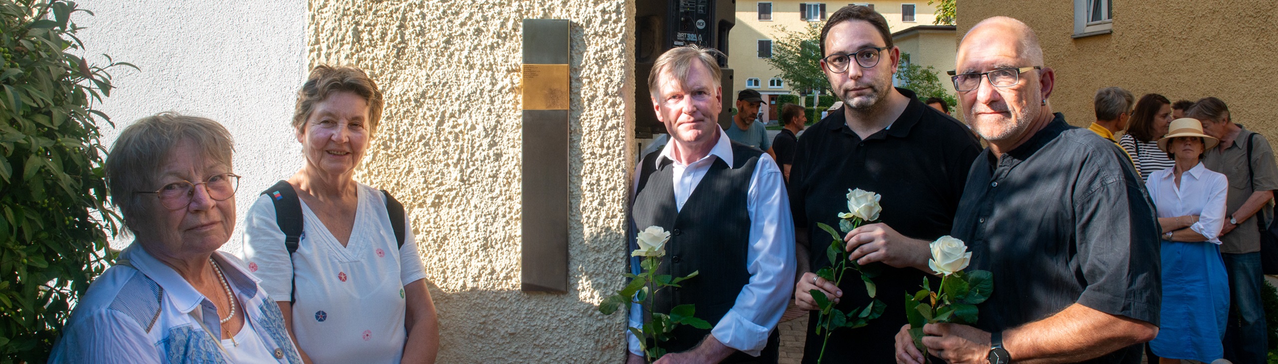
[{"label": "dark button-up shirt on the bald man wearing a wristwatch", "polygon": [[[1127,155],[1056,114],[1030,140],[971,166],[953,236],[993,272],[976,326],[1002,331],[1079,303],[1158,324],[1153,202]],[[1085,363],[1140,363],[1140,345]],[[1015,355],[1015,354],[1013,354]]]}]

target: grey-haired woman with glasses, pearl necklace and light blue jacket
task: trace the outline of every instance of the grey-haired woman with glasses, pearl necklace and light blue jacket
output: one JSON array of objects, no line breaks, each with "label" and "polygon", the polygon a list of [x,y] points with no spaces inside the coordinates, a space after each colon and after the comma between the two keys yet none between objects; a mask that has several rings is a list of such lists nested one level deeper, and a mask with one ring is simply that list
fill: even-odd
[{"label": "grey-haired woman with glasses, pearl necklace and light blue jacket", "polygon": [[231,137],[165,112],[129,125],[106,158],[133,244],[75,304],[50,363],[302,364],[280,308],[234,255]]}]

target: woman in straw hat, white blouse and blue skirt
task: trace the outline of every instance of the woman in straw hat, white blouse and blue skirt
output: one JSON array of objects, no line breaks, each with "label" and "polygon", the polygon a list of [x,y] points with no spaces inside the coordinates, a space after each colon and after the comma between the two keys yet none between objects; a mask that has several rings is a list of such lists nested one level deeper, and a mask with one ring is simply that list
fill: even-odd
[{"label": "woman in straw hat, white blouse and blue skirt", "polygon": [[1229,309],[1219,249],[1229,183],[1200,162],[1218,140],[1203,133],[1199,120],[1176,119],[1169,129],[1158,148],[1176,165],[1145,181],[1163,227],[1163,303],[1158,336],[1149,346],[1159,363],[1212,363],[1224,356],[1220,340]]}]

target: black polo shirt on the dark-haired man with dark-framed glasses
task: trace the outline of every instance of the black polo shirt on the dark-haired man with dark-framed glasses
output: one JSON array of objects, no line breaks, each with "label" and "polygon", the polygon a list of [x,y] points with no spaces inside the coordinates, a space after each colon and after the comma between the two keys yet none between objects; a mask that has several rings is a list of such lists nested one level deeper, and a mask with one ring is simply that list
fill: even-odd
[{"label": "black polo shirt on the dark-haired man with dark-framed glasses", "polygon": [[[879,220],[906,236],[932,240],[950,234],[980,144],[958,120],[919,102],[909,89],[897,91],[910,97],[910,105],[891,126],[864,140],[847,128],[842,110],[829,112],[799,139],[790,167],[790,206],[795,226],[808,227],[808,241],[817,246],[809,253],[813,271],[829,266],[824,250],[832,239],[817,222],[837,229],[837,215],[847,212],[849,189],[881,194]],[[874,282],[887,310],[869,326],[835,331],[826,361],[895,363],[893,337],[906,324],[905,292],[918,291],[923,277],[915,268],[883,266]],[[843,312],[870,301],[852,271],[841,289]],[[822,337],[812,333],[815,323],[814,312],[804,363],[815,363],[820,354]]]}]

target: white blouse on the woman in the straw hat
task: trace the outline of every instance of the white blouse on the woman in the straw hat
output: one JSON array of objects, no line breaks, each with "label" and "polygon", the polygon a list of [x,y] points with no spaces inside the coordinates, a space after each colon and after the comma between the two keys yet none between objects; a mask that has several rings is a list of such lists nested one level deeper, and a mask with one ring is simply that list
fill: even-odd
[{"label": "white blouse on the woman in the straw hat", "polygon": [[1224,197],[1229,188],[1224,175],[1208,170],[1199,162],[1181,175],[1176,188],[1174,167],[1149,174],[1145,188],[1154,199],[1158,217],[1197,215],[1199,221],[1190,230],[1206,236],[1206,241],[1220,244],[1224,227]]}]

